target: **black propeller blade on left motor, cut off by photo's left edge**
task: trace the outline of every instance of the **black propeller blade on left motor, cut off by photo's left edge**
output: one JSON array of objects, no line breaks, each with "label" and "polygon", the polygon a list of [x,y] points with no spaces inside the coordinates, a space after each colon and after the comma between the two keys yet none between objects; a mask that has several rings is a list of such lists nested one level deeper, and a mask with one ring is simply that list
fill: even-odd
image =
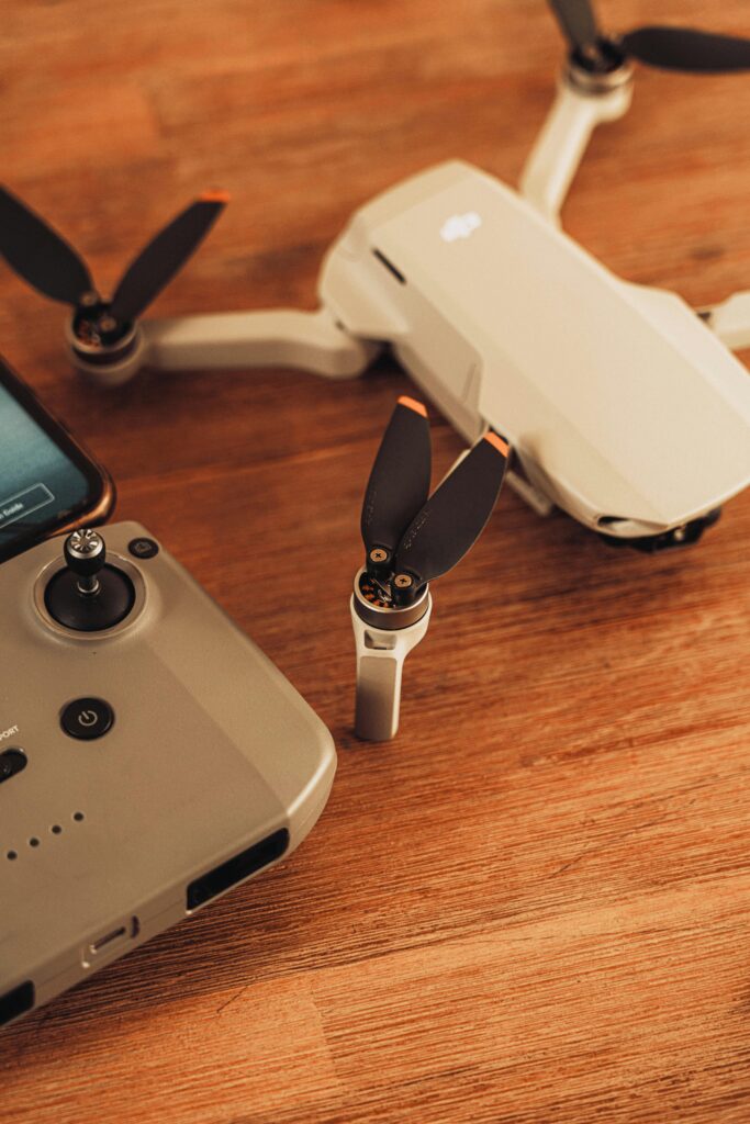
[{"label": "black propeller blade on left motor, cut off by photo's left edge", "polygon": [[0,254],[51,300],[78,307],[93,290],[85,262],[36,211],[0,187]]}]

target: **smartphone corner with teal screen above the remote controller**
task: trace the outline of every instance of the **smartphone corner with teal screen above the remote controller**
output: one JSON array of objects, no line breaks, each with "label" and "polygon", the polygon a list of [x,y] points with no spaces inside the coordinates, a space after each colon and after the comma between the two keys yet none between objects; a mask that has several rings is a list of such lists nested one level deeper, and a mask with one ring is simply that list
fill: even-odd
[{"label": "smartphone corner with teal screen above the remote controller", "polygon": [[114,506],[109,473],[0,357],[0,562]]}]

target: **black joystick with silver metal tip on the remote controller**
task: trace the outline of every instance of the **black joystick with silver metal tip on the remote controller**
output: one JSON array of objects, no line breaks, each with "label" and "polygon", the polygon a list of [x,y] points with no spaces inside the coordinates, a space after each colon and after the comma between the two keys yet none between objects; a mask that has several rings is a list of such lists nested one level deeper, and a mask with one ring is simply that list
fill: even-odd
[{"label": "black joystick with silver metal tip on the remote controller", "polygon": [[74,632],[105,632],[133,609],[135,588],[125,571],[107,562],[98,531],[74,531],[63,547],[65,568],[49,580],[45,605],[49,616]]}]

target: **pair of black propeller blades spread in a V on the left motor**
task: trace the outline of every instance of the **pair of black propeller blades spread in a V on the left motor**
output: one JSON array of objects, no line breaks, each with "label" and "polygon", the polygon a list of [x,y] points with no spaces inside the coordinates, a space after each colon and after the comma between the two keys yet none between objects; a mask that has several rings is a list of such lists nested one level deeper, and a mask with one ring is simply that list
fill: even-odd
[{"label": "pair of black propeller blades spread in a V on the left motor", "polygon": [[110,346],[169,284],[206,237],[228,196],[206,192],[156,234],[103,300],[80,254],[21,199],[0,185],[0,256],[28,284],[73,309],[75,338]]}]

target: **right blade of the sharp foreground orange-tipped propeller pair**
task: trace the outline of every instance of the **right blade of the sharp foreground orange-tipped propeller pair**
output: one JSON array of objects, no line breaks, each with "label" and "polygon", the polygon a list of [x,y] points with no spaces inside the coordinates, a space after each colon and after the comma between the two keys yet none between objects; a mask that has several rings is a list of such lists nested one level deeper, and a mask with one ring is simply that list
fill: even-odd
[{"label": "right blade of the sharp foreground orange-tipped propeller pair", "polygon": [[399,578],[412,578],[418,591],[470,551],[493,514],[508,453],[501,437],[486,434],[427,500],[396,551],[396,600],[408,597],[412,588],[407,586],[401,593]]}]

